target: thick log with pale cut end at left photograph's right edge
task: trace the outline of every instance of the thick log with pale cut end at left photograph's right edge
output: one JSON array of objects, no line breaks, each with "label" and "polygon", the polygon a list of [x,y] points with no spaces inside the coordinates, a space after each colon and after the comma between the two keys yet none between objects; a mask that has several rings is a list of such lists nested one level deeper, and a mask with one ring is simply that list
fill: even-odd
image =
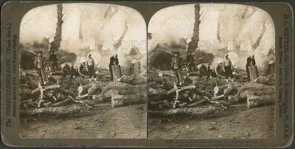
[{"label": "thick log with pale cut end at left photograph's right edge", "polygon": [[112,107],[120,107],[120,106],[128,106],[133,104],[141,104],[146,103],[147,101],[147,94],[146,93],[137,93],[137,94],[130,94],[130,95],[118,95],[113,93],[112,94]]}]

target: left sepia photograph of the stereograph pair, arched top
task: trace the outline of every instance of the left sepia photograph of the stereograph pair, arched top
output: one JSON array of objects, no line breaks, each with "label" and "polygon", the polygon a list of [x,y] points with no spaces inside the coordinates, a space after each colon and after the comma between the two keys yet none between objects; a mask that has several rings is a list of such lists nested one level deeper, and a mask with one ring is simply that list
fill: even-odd
[{"label": "left sepia photograph of the stereograph pair, arched top", "polygon": [[20,25],[22,138],[147,138],[147,26],[105,3],[33,8]]}]

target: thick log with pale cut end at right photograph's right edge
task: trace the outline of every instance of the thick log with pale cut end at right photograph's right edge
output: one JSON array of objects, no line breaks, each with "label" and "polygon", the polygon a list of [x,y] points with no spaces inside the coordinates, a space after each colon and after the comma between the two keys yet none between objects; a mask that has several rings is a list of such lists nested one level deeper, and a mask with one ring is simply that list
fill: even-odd
[{"label": "thick log with pale cut end at right photograph's right edge", "polygon": [[267,105],[275,104],[275,94],[266,95],[266,96],[254,96],[251,94],[247,94],[247,107],[262,107]]}]

